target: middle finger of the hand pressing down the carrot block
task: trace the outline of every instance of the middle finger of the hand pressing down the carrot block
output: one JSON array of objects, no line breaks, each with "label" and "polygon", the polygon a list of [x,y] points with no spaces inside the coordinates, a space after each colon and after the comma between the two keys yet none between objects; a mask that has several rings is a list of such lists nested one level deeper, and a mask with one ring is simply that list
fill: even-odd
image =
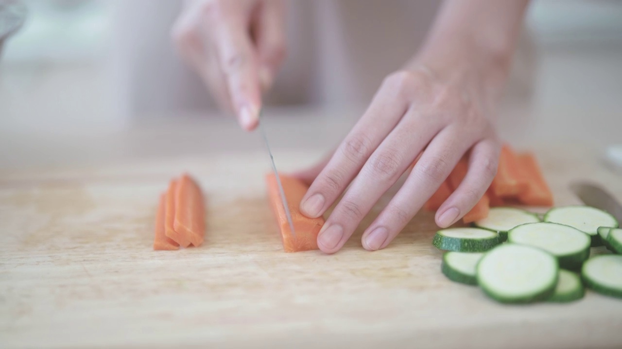
[{"label": "middle finger of the hand pressing down the carrot block", "polygon": [[[324,234],[318,236],[318,245],[324,252],[339,250],[350,238],[363,217],[371,211],[378,199],[396,183],[422,148],[434,137],[443,124],[440,118],[422,116],[410,110],[369,157],[350,189],[328,217]],[[413,130],[416,130],[415,132]],[[419,160],[418,163],[420,163]],[[404,220],[404,217],[399,217]],[[335,228],[337,227],[337,228]],[[331,233],[340,230],[341,237]]]}]

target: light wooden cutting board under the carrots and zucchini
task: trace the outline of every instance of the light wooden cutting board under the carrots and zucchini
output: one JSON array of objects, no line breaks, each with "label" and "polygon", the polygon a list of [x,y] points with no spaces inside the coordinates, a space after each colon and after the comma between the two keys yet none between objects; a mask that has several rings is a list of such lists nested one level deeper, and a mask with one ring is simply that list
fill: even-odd
[{"label": "light wooden cutting board under the carrots and zucchini", "polygon": [[[557,204],[620,174],[580,148],[537,154]],[[283,171],[317,153],[277,152]],[[421,212],[388,248],[284,253],[267,156],[230,153],[0,176],[0,347],[622,347],[622,300],[504,306],[448,281]],[[207,196],[205,245],[152,250],[157,197],[188,171]]]}]

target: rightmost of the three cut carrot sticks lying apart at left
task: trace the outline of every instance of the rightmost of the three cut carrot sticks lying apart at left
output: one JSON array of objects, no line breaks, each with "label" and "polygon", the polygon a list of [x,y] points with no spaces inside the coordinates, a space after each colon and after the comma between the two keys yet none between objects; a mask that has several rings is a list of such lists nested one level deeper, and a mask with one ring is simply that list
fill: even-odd
[{"label": "rightmost of the three cut carrot sticks lying apart at left", "polygon": [[205,235],[205,205],[198,184],[188,174],[182,174],[175,191],[175,232],[195,247]]}]

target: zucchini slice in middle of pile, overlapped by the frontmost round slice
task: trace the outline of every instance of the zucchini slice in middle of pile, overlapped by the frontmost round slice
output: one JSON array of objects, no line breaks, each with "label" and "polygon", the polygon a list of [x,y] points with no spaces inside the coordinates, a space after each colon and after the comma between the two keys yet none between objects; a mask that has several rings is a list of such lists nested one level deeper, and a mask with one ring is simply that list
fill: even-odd
[{"label": "zucchini slice in middle of pile, overlapped by the frontmost round slice", "polygon": [[541,248],[554,255],[562,268],[580,268],[590,256],[590,237],[568,225],[522,224],[509,230],[508,242]]}]

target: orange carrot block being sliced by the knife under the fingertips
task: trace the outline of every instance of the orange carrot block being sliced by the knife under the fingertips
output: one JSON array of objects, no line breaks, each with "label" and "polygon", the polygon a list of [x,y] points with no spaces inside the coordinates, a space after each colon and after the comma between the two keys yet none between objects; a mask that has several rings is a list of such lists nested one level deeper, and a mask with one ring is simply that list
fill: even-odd
[{"label": "orange carrot block being sliced by the knife under the fingertips", "polygon": [[289,211],[294,223],[294,234],[292,234],[287,215],[281,200],[281,192],[277,184],[274,173],[266,175],[267,196],[272,207],[272,213],[277,220],[281,231],[281,241],[285,252],[300,252],[317,250],[317,235],[324,224],[322,217],[309,218],[300,213],[300,201],[307,193],[309,187],[297,178],[279,174],[285,199],[289,204]]}]

